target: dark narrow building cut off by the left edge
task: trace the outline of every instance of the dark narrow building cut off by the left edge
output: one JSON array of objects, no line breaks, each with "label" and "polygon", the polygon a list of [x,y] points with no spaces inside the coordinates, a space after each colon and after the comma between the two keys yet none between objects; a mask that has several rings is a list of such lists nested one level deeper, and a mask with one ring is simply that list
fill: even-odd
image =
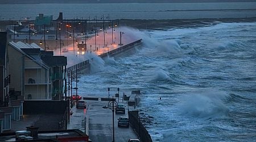
[{"label": "dark narrow building cut off by the left edge", "polygon": [[[22,118],[24,96],[11,89],[7,33],[0,32],[0,133],[11,130],[11,120]],[[15,82],[15,80],[13,80]]]}]

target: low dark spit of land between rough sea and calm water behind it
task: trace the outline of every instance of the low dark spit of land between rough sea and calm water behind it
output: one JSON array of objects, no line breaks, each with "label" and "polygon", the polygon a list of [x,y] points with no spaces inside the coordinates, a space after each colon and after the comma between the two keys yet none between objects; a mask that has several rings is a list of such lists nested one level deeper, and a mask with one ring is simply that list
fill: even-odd
[{"label": "low dark spit of land between rough sea and calm water behind it", "polygon": [[[198,18],[198,19],[114,19],[121,26],[133,27],[139,30],[160,30],[163,28],[203,27],[218,23],[256,22],[256,17],[250,18]],[[28,20],[27,22],[34,22]],[[5,29],[10,20],[0,20],[0,29]]]}]

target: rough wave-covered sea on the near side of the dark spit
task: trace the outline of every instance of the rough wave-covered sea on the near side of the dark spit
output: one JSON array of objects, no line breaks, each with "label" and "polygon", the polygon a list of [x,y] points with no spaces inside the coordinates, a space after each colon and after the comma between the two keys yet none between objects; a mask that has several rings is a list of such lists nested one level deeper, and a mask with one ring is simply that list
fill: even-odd
[{"label": "rough wave-covered sea on the near side of the dark spit", "polygon": [[95,57],[79,93],[141,90],[136,109],[153,141],[255,141],[256,23],[215,23],[133,30],[143,45]]}]

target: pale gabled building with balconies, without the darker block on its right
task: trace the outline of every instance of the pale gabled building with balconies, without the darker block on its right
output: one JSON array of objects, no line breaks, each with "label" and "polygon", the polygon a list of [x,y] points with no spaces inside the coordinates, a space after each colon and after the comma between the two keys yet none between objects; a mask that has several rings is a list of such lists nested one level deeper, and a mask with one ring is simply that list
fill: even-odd
[{"label": "pale gabled building with balconies, without the darker block on its right", "polygon": [[51,99],[49,66],[40,59],[40,48],[22,42],[8,45],[10,74],[15,81],[10,87],[20,91],[24,99]]}]

